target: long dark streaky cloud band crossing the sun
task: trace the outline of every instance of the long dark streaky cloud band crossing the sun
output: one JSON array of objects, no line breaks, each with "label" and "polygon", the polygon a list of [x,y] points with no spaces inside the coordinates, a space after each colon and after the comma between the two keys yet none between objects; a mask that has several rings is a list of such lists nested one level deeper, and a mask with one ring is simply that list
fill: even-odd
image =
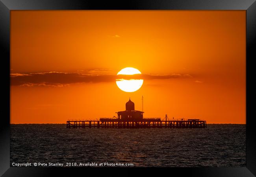
[{"label": "long dark streaky cloud band crossing the sun", "polygon": [[[115,82],[116,79],[175,79],[188,78],[188,74],[134,74],[113,75],[109,70],[96,69],[80,72],[38,72],[38,73],[15,73],[10,74],[12,86],[23,87],[66,87],[73,83],[100,83]],[[189,77],[192,77],[189,75]]]}]

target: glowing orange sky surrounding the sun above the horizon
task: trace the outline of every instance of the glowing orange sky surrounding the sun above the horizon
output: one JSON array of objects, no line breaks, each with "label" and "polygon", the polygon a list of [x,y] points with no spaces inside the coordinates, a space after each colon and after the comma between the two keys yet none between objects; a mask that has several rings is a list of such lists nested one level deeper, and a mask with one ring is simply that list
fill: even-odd
[{"label": "glowing orange sky surrounding the sun above the horizon", "polygon": [[[11,11],[11,124],[117,116],[245,124],[246,11]],[[141,89],[115,75],[134,67]],[[81,76],[83,76],[81,78]]]}]

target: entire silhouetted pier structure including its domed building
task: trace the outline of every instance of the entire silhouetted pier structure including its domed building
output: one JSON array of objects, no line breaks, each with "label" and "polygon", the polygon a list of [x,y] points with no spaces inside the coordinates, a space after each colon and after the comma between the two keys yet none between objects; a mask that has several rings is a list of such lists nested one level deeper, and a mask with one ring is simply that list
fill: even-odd
[{"label": "entire silhouetted pier structure including its domed building", "polygon": [[187,119],[169,120],[165,118],[143,118],[143,111],[136,111],[134,102],[129,99],[125,111],[116,112],[117,117],[100,120],[67,120],[67,128],[206,128],[206,120]]}]

